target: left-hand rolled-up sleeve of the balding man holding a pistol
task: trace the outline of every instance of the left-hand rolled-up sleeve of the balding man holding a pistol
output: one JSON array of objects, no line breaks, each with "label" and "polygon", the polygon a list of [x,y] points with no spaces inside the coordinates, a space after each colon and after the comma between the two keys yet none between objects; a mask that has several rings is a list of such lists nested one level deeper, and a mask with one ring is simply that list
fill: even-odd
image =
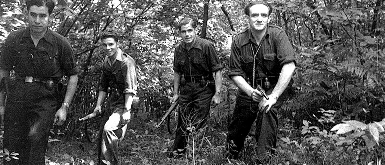
[{"label": "left-hand rolled-up sleeve of the balding man holding a pistol", "polygon": [[239,51],[239,40],[237,37],[233,38],[233,42],[231,43],[231,55],[229,61],[229,74],[228,76],[231,78],[233,76],[242,76],[245,77],[246,74],[241,68],[240,56],[241,52]]}]

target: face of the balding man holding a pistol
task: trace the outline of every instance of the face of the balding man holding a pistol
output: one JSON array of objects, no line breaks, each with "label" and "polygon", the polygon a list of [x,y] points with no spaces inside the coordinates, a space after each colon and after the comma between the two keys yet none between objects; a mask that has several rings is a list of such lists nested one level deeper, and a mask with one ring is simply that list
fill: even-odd
[{"label": "face of the balding man holding a pistol", "polygon": [[248,18],[251,29],[262,31],[270,22],[269,8],[263,4],[253,5],[250,7]]}]

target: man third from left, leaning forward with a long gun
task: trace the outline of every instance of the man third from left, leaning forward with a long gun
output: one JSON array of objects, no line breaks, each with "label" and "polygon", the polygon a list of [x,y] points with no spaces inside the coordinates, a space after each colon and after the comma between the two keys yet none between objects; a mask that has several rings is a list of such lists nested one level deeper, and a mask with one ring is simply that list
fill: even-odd
[{"label": "man third from left, leaning forward with a long gun", "polygon": [[191,131],[187,127],[202,128],[208,120],[211,102],[214,106],[221,102],[223,67],[214,45],[197,37],[197,23],[196,19],[186,17],[177,25],[183,41],[174,52],[171,102],[179,99],[179,116],[172,155],[186,152],[186,140]]}]

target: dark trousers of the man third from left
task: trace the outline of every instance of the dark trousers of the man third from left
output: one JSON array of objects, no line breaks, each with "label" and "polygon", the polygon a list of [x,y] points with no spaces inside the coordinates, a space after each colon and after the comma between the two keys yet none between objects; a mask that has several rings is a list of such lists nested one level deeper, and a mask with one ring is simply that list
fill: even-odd
[{"label": "dark trousers of the man third from left", "polygon": [[[178,125],[172,146],[172,150],[177,151],[178,154],[186,151],[187,138],[190,133],[187,127],[194,127],[198,131],[206,125],[215,86],[186,83],[181,85],[179,93]],[[178,149],[182,151],[180,152]]]}]

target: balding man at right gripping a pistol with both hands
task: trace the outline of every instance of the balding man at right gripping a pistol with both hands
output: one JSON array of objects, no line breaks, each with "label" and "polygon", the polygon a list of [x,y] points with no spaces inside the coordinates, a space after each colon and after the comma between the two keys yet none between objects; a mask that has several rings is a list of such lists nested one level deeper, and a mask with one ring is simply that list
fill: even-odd
[{"label": "balding man at right gripping a pistol with both hands", "polygon": [[288,99],[286,88],[293,84],[296,52],[285,31],[269,25],[271,10],[266,2],[249,3],[244,13],[250,27],[236,35],[231,45],[229,77],[239,88],[227,136],[232,159],[238,158],[256,121],[256,163],[269,160],[276,147],[278,109]]}]

